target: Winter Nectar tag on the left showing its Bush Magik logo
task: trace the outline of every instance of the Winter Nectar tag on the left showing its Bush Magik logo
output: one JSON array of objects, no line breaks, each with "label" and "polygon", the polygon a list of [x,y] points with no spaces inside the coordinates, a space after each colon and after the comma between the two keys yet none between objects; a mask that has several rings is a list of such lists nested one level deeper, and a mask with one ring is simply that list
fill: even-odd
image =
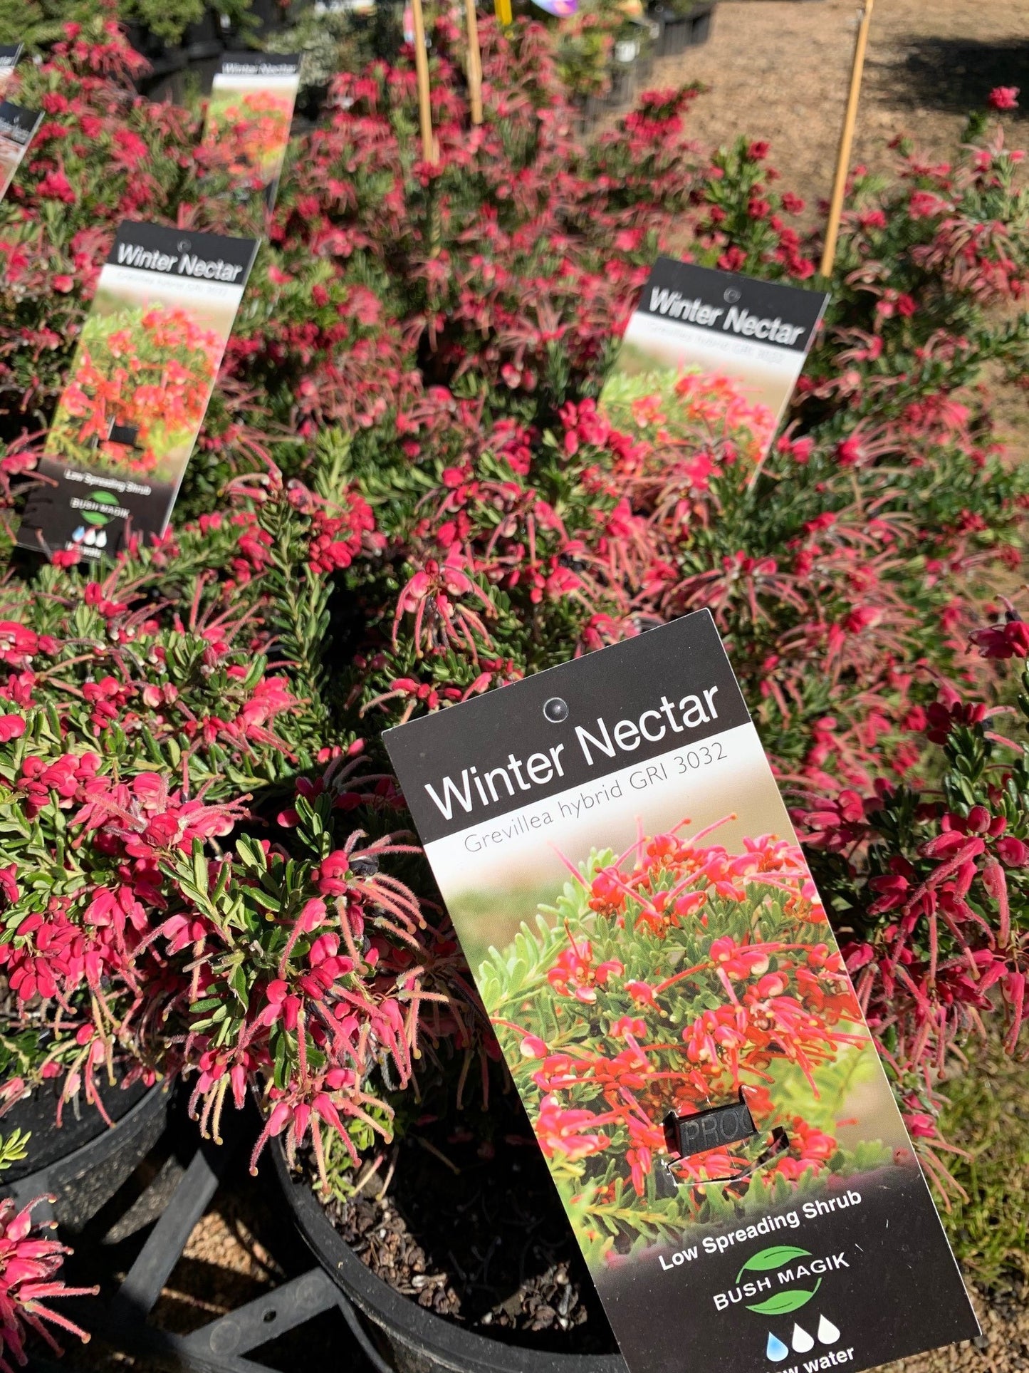
[{"label": "Winter Nectar tag on the left showing its Bush Magik logo", "polygon": [[207,413],[257,239],[125,221],[100,270],[18,530],[47,557],[161,535]]}]

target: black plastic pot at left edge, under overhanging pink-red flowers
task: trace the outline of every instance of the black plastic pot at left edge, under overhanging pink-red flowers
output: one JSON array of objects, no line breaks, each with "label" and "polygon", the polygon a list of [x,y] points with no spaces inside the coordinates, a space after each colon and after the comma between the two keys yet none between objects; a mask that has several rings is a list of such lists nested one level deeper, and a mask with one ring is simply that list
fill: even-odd
[{"label": "black plastic pot at left edge, under overhanging pink-red flowers", "polygon": [[[29,1157],[21,1167],[27,1164],[33,1171],[8,1170],[0,1175],[0,1192],[12,1196],[19,1205],[52,1193],[56,1197],[49,1211],[52,1218],[71,1233],[81,1230],[159,1140],[167,1119],[167,1100],[165,1086],[136,1094],[115,1090],[110,1100],[106,1098],[113,1115],[122,1107],[114,1127],[91,1107],[78,1120],[66,1116],[60,1130],[54,1124],[55,1104],[45,1100],[45,1093],[19,1101],[3,1118],[0,1130],[8,1133],[14,1126],[32,1130]],[[47,1109],[49,1114],[44,1119]],[[43,1207],[33,1214],[43,1219]]]}]

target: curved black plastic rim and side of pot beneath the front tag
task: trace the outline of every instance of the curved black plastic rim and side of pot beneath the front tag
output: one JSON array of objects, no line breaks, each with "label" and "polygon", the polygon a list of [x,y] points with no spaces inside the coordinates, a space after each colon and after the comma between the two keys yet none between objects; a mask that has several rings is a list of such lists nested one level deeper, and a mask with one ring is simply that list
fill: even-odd
[{"label": "curved black plastic rim and side of pot beneath the front tag", "polygon": [[627,1373],[620,1354],[553,1354],[505,1344],[409,1302],[350,1251],[310,1186],[289,1175],[279,1141],[272,1153],[300,1234],[325,1273],[377,1328],[398,1373]]}]

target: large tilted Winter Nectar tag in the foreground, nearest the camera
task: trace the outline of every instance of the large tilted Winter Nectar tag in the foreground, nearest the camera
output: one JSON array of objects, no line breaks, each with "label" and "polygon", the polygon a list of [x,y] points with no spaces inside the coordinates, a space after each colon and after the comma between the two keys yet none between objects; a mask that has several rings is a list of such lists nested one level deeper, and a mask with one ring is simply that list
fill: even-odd
[{"label": "large tilted Winter Nectar tag in the foreground, nearest the camera", "polygon": [[384,739],[630,1370],[975,1336],[711,614]]}]

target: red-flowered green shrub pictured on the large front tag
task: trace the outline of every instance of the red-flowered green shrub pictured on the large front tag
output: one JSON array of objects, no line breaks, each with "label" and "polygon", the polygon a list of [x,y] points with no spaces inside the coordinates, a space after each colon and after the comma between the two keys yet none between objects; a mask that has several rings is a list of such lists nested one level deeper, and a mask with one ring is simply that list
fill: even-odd
[{"label": "red-flowered green shrub pictured on the large front tag", "polygon": [[[565,891],[564,932],[543,942],[523,925],[517,960],[497,954],[480,973],[501,1039],[520,1050],[516,1075],[558,1185],[587,1214],[611,1207],[619,1233],[632,1232],[637,1205],[661,1204],[652,1174],[667,1159],[671,1108],[689,1115],[744,1089],[763,1133],[788,1130],[768,1177],[838,1167],[833,1135],[781,1119],[767,1089],[772,1063],[796,1065],[814,1089],[816,1067],[864,1042],[842,958],[818,938],[826,919],[804,858],[770,835],[741,854],[705,835],[656,835],[572,869],[579,897],[573,909]],[[681,1181],[731,1181],[746,1167],[724,1148],[675,1164]]]}]

